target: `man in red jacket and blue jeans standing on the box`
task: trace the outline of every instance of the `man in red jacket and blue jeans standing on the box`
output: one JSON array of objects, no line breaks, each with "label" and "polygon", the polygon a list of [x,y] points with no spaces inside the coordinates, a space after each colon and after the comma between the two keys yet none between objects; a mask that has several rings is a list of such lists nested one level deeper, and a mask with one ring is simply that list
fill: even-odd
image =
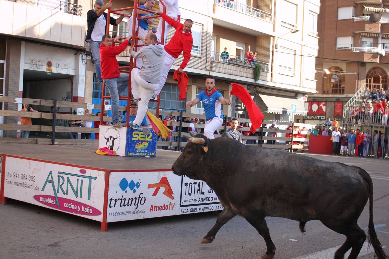
[{"label": "man in red jacket and blue jeans standing on the box", "polygon": [[[119,46],[115,46],[115,42],[119,40],[119,38],[120,37],[117,36],[112,42],[112,38],[109,35],[104,35],[100,45],[101,77],[103,78],[111,96],[113,127],[124,127],[126,125],[126,123],[119,122],[118,106],[119,93],[123,92],[123,90],[128,86],[129,76],[126,73],[119,72],[119,64],[117,63],[116,55],[126,49],[131,35],[123,40]],[[117,83],[120,83],[120,85],[117,86]]]}]

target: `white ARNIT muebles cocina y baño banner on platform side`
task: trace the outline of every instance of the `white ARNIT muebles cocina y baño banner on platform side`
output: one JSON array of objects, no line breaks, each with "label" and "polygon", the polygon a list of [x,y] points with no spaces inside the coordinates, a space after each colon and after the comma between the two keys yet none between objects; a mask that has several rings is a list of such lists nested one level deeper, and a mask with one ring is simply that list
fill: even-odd
[{"label": "white ARNIT muebles cocina y ba\u00f1o banner on platform side", "polygon": [[103,220],[105,172],[7,156],[4,196]]}]

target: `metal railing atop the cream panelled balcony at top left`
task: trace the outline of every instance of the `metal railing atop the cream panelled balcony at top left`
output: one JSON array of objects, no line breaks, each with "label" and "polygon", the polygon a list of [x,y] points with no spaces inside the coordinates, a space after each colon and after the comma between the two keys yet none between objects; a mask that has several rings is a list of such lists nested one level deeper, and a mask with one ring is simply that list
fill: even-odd
[{"label": "metal railing atop the cream panelled balcony at top left", "polygon": [[76,0],[68,0],[68,2],[60,0],[11,0],[11,2],[26,3],[51,10],[59,10],[67,14],[82,15],[82,6],[77,5]]}]

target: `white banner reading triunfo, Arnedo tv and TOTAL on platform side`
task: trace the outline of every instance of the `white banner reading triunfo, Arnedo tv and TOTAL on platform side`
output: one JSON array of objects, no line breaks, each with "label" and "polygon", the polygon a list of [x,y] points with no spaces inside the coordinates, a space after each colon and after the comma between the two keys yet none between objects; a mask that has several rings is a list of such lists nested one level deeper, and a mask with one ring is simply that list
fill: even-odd
[{"label": "white banner reading triunfo, Arnedo tv and TOTAL on platform side", "polygon": [[173,172],[111,172],[107,222],[222,210],[203,181]]}]

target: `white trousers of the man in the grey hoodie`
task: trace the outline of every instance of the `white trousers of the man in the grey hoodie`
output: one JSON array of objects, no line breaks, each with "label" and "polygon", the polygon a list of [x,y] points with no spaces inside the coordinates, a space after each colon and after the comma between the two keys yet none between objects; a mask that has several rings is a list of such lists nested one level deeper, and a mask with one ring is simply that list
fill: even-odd
[{"label": "white trousers of the man in the grey hoodie", "polygon": [[[140,89],[142,87],[142,95],[140,95]],[[143,121],[144,116],[146,115],[147,108],[149,108],[149,101],[151,96],[157,90],[158,83],[149,83],[140,77],[140,69],[133,68],[131,71],[131,92],[135,99],[139,99],[138,102],[138,112],[133,124],[140,125]]]}]

